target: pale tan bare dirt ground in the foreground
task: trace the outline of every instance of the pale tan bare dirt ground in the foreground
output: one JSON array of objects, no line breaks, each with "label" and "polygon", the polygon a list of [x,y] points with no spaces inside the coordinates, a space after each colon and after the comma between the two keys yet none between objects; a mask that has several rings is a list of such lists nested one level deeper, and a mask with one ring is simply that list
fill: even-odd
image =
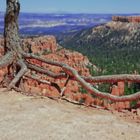
[{"label": "pale tan bare dirt ground in the foreground", "polygon": [[0,89],[0,140],[140,140],[140,124],[109,111]]}]

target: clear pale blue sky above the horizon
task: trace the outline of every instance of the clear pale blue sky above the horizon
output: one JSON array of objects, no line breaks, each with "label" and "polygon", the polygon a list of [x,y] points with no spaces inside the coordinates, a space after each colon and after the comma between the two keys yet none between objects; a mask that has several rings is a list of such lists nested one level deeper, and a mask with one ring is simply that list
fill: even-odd
[{"label": "clear pale blue sky above the horizon", "polygon": [[[0,0],[5,11],[6,0]],[[140,13],[140,0],[20,0],[21,12]]]}]

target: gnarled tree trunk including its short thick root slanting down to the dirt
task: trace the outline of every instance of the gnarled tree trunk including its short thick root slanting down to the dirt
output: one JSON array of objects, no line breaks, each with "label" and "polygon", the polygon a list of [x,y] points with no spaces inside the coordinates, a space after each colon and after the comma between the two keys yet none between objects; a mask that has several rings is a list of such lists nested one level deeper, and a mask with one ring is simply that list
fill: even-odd
[{"label": "gnarled tree trunk including its short thick root slanting down to the dirt", "polygon": [[[8,88],[13,88],[20,80],[27,68],[22,59],[22,48],[19,38],[18,16],[20,11],[20,3],[18,0],[7,0],[7,8],[5,13],[4,26],[4,50],[6,59],[3,63],[8,65],[8,74],[14,79]],[[18,67],[22,69],[18,71]],[[17,74],[17,75],[16,75]],[[14,77],[14,75],[16,75]]]}]

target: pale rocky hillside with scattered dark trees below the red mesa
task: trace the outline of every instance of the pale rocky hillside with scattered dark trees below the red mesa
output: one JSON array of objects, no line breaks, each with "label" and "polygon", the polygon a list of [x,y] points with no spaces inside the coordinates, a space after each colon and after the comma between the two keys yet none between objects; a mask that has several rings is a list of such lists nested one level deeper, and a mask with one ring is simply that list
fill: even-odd
[{"label": "pale rocky hillside with scattered dark trees below the red mesa", "polygon": [[[111,21],[106,24],[83,30],[66,39],[63,43],[66,48],[76,49],[79,52],[96,54],[96,50],[112,48],[139,48],[140,24],[133,22]],[[99,49],[98,49],[99,48]],[[94,57],[94,56],[93,56]]]}]

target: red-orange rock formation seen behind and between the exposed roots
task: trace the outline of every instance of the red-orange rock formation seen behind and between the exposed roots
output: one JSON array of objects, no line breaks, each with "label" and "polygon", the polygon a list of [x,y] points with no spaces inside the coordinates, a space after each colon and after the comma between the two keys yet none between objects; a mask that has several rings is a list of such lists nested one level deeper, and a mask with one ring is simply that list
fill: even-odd
[{"label": "red-orange rock formation seen behind and between the exposed roots", "polygon": [[[23,44],[25,47],[25,50],[28,49],[28,47],[31,47],[33,53],[38,53],[39,55],[42,55],[42,57],[46,59],[51,59],[55,61],[64,62],[71,67],[75,68],[79,74],[84,76],[89,76],[89,69],[86,67],[86,65],[90,64],[87,57],[83,56],[82,54],[78,52],[71,52],[66,49],[58,49],[58,45],[56,43],[56,40],[53,36],[44,36],[44,37],[35,37],[35,38],[26,38],[23,39]],[[0,39],[0,54],[3,55],[3,39]],[[50,66],[47,64],[44,64],[40,61],[37,61],[35,59],[28,60],[32,64],[36,64],[38,66],[42,66],[43,68],[46,68],[50,71],[53,71],[55,73],[60,73],[62,71],[61,68],[56,66]],[[95,66],[94,66],[95,67]],[[6,69],[0,70],[0,81],[3,79],[5,73],[7,72]],[[32,72],[34,73],[34,72]],[[42,79],[52,81],[57,83],[61,88],[64,87],[66,79],[53,79],[51,77],[43,76],[39,74]],[[49,96],[49,97],[59,97],[60,93],[52,86],[48,86],[45,84],[40,84],[32,79],[24,80],[24,88],[26,92],[31,92],[32,94],[38,94],[42,96]],[[113,95],[121,96],[124,94],[124,82],[118,82],[116,86],[112,87],[112,93]],[[93,98],[89,94],[83,94],[80,93],[80,85],[76,81],[69,81],[66,90],[64,92],[64,95],[67,98],[70,98],[72,100],[75,100],[77,102],[84,101],[84,104],[86,106],[90,105],[99,105],[104,106],[105,108],[110,109],[123,109],[123,108],[129,108],[129,102],[126,103],[108,103],[107,101]]]}]

